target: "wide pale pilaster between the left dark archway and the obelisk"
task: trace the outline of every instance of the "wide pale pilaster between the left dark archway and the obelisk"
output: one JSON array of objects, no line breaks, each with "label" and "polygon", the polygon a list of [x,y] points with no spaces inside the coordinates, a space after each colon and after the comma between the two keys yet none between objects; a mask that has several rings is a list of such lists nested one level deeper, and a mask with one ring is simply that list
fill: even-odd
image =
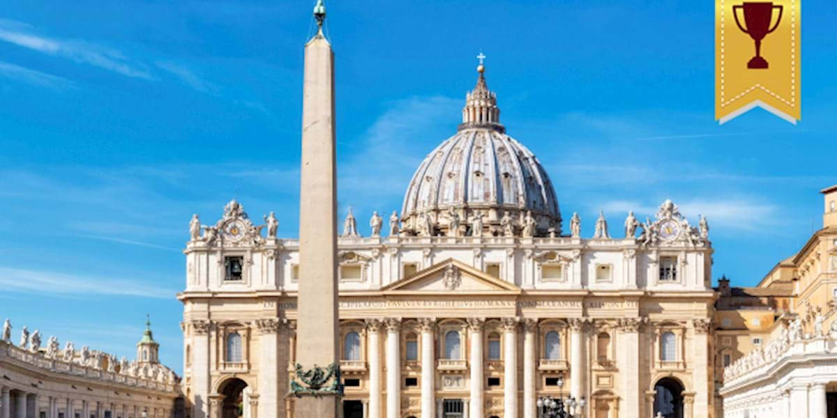
[{"label": "wide pale pilaster between the left dark archway and the obelisk", "polygon": [[[280,412],[279,380],[280,373],[285,373],[285,364],[279,361],[279,330],[282,325],[279,318],[256,319],[259,329],[259,416],[273,418],[285,415]],[[281,371],[280,371],[281,370]],[[249,399],[245,402],[248,404]],[[248,416],[248,415],[245,415]],[[249,415],[252,416],[252,415]],[[249,418],[248,416],[248,418]]]}]

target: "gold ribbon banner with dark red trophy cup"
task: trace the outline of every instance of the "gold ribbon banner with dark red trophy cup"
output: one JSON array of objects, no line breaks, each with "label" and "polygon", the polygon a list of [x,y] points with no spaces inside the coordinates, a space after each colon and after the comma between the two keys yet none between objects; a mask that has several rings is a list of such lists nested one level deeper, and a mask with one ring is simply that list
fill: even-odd
[{"label": "gold ribbon banner with dark red trophy cup", "polygon": [[796,124],[801,118],[802,0],[715,3],[715,119],[723,124],[758,106]]}]

